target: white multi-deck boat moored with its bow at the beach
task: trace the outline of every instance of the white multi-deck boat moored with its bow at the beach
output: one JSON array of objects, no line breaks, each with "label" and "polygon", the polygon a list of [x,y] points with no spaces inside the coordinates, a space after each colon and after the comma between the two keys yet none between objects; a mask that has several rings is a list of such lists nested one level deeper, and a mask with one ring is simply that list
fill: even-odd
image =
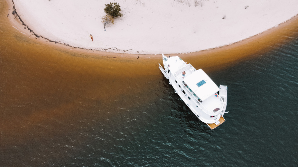
[{"label": "white multi-deck boat moored with its bow at the beach", "polygon": [[159,69],[198,119],[211,129],[225,122],[227,86],[218,88],[202,69],[196,70],[178,56],[162,54],[162,61],[164,68],[158,63]]}]

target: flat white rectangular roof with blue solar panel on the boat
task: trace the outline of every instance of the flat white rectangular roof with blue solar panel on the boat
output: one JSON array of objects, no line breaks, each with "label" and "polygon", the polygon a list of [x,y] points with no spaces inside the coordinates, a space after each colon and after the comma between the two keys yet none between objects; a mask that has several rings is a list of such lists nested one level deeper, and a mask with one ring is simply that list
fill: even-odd
[{"label": "flat white rectangular roof with blue solar panel on the boat", "polygon": [[219,91],[216,84],[202,69],[186,76],[183,81],[202,101]]}]

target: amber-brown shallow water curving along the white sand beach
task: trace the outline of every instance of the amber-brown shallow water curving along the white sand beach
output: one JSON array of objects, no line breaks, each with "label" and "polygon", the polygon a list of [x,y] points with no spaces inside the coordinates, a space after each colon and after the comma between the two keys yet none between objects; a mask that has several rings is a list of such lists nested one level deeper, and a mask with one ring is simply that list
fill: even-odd
[{"label": "amber-brown shallow water curving along the white sand beach", "polygon": [[[162,90],[167,82],[158,69],[161,56],[82,52],[42,43],[12,26],[6,1],[1,0],[0,7],[0,152],[8,154],[2,162],[19,156],[32,159],[27,153],[44,149],[41,143],[50,142],[47,138],[67,143],[71,137],[63,138],[63,134],[69,130],[80,132],[94,120],[112,119],[122,109],[134,115],[132,109],[141,111],[168,95]],[[293,35],[291,27],[297,25],[296,17],[259,35],[262,38],[177,55],[207,74],[216,73],[286,42]],[[84,141],[84,137],[76,140]]]}]

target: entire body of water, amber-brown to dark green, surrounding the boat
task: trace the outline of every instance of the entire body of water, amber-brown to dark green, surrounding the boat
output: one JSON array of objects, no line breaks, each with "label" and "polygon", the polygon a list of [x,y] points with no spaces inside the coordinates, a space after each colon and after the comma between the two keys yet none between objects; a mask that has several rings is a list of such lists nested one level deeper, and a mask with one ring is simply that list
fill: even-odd
[{"label": "entire body of water, amber-brown to dark green, surrounding the boat", "polygon": [[0,31],[0,166],[298,166],[298,26],[206,71],[228,86],[215,130],[174,93],[161,59],[65,53],[3,19]]}]

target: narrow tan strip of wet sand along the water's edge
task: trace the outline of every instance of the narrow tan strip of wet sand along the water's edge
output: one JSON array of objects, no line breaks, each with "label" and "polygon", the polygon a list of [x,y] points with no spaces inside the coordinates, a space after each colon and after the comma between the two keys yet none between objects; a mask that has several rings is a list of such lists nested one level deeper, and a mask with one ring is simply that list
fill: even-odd
[{"label": "narrow tan strip of wet sand along the water's edge", "polygon": [[[32,35],[34,36],[34,40],[37,42],[40,42],[41,44],[46,44],[49,46],[52,46],[54,48],[57,49],[63,49],[65,51],[75,51],[75,52],[79,52],[79,53],[88,53],[88,54],[92,54],[95,56],[107,56],[107,57],[129,57],[129,58],[137,58],[139,56],[144,57],[146,56],[146,58],[160,58],[159,54],[131,54],[131,53],[113,53],[113,52],[104,52],[104,51],[97,51],[97,50],[92,50],[92,49],[86,49],[86,48],[79,48],[79,47],[73,47],[71,45],[68,44],[63,44],[57,41],[52,41],[49,40],[46,37],[40,36],[38,34],[36,34],[26,23],[24,23],[21,20],[21,17],[17,14],[17,11],[15,10],[14,7],[14,2],[11,1],[9,2],[8,0],[6,0],[7,4],[8,4],[8,18],[10,20],[10,23],[12,25],[13,28],[17,29],[21,34],[31,38]],[[14,14],[13,14],[14,13]],[[11,17],[11,15],[13,15],[14,17]],[[17,19],[17,20],[15,20]],[[277,26],[274,26],[266,31],[263,31],[262,33],[256,34],[252,37],[246,38],[244,40],[240,40],[238,42],[234,42],[231,43],[229,45],[224,45],[224,46],[220,46],[220,47],[216,47],[216,48],[209,48],[209,49],[205,49],[205,50],[201,50],[201,51],[195,51],[195,52],[188,52],[188,53],[173,53],[173,54],[167,54],[169,56],[176,56],[179,55],[181,57],[184,56],[207,56],[207,54],[211,54],[211,53],[218,53],[218,52],[222,52],[222,51],[227,51],[227,50],[231,50],[231,49],[236,49],[237,48],[241,48],[241,47],[246,47],[248,45],[254,45],[253,43],[255,43],[256,41],[266,41],[266,39],[264,38],[269,38],[271,39],[272,34],[274,33],[286,33],[283,30],[286,29],[286,26],[291,25],[291,23],[298,23],[298,14],[293,16],[292,18],[290,18],[289,20],[280,23]],[[26,28],[24,28],[26,27]],[[264,43],[264,42],[263,42]],[[250,49],[250,48],[248,48]],[[263,48],[259,48],[260,49],[266,49],[266,46],[264,46]],[[251,52],[250,52],[251,53]],[[243,57],[243,56],[240,56]],[[238,59],[240,58],[238,57]]]}]

